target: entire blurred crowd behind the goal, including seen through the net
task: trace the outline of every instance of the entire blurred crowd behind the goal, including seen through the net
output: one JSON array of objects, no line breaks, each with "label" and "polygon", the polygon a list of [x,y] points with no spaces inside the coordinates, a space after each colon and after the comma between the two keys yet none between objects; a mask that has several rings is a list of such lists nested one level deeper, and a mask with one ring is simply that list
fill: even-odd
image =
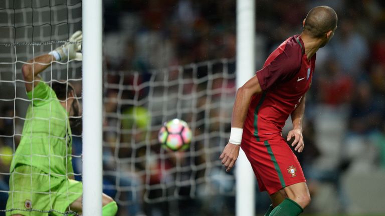
[{"label": "entire blurred crowd behind the goal, including seen through the net", "polygon": [[[370,199],[373,194],[352,191],[361,186],[356,181],[365,182],[366,191],[375,192],[385,180],[385,2],[256,0],[256,67],[258,70],[283,40],[301,32],[307,11],[317,5],[336,10],[338,28],[330,43],[317,52],[307,93],[305,149],[297,155],[313,197],[307,212],[378,213],[383,207]],[[119,215],[233,215],[234,173],[225,173],[217,157],[228,138],[235,81],[233,76],[208,77],[221,73],[225,66],[228,74],[235,74],[236,1],[104,0],[103,47],[103,183],[104,191],[118,199]],[[214,59],[232,60],[220,61],[213,68],[177,67]],[[158,88],[150,91],[146,84],[150,81],[159,81]],[[213,94],[198,96],[197,104],[190,104],[194,100],[189,92],[208,87]],[[78,90],[80,95],[81,87]],[[151,108],[146,100],[149,96],[153,97]],[[166,99],[166,107],[156,104],[156,98]],[[190,109],[183,111],[191,106],[196,115]],[[10,156],[6,155],[12,154],[7,152],[13,152],[19,138],[11,129],[13,110],[6,106],[2,116],[9,118],[0,119],[1,173],[9,172]],[[180,111],[177,116],[176,111]],[[159,147],[157,131],[169,117],[193,124],[194,148],[169,152]],[[208,117],[214,120],[208,123]],[[287,124],[284,132],[291,126],[290,121]],[[215,131],[226,133],[215,135]],[[208,133],[214,134],[210,143]],[[74,155],[81,154],[79,136],[74,139],[74,150]],[[74,166],[81,173],[80,157],[74,159]],[[1,193],[8,190],[8,175],[0,177]],[[209,178],[213,187],[200,185]],[[175,185],[175,179],[180,184]],[[200,196],[207,188],[220,188],[220,192],[214,191],[218,195],[209,199]],[[226,195],[222,195],[224,191]],[[257,212],[262,213],[270,201],[263,193],[256,194]],[[365,206],[369,201],[376,206]],[[199,211],[201,206],[203,211]]]}]

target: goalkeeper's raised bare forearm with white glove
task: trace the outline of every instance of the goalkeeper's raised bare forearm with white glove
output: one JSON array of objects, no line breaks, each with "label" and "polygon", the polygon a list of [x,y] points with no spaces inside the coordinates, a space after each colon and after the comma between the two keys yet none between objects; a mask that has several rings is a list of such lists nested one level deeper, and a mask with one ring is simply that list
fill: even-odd
[{"label": "goalkeeper's raised bare forearm with white glove", "polygon": [[51,65],[52,61],[66,62],[68,60],[82,60],[80,42],[82,41],[82,32],[76,31],[64,45],[56,48],[48,54],[40,55],[23,64],[22,72],[26,81],[27,92],[31,91],[41,79],[39,73]]}]

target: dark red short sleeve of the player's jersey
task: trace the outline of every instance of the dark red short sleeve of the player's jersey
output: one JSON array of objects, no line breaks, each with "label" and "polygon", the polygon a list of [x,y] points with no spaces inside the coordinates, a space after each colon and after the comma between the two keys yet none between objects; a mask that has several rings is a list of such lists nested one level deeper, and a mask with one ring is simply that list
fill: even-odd
[{"label": "dark red short sleeve of the player's jersey", "polygon": [[292,78],[299,71],[302,56],[297,53],[291,54],[285,50],[256,72],[262,90],[268,90],[272,85]]}]

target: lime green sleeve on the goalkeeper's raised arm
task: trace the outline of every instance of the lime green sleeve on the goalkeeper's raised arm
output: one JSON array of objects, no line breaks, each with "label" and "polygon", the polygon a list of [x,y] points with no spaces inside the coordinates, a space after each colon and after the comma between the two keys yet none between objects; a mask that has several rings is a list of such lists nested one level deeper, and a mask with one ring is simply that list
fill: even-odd
[{"label": "lime green sleeve on the goalkeeper's raised arm", "polygon": [[55,95],[53,89],[44,81],[40,81],[32,91],[27,92],[27,96],[32,100],[34,106],[48,102],[53,95]]}]

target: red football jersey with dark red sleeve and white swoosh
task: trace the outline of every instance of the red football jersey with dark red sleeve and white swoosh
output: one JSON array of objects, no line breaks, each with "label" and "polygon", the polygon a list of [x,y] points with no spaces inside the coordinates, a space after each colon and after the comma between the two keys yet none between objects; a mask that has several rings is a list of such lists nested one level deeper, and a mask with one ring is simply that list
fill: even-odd
[{"label": "red football jersey with dark red sleeve and white swoosh", "polygon": [[281,135],[289,114],[297,107],[309,89],[316,54],[310,60],[299,35],[281,43],[256,72],[262,93],[252,97],[244,132],[258,141]]}]

